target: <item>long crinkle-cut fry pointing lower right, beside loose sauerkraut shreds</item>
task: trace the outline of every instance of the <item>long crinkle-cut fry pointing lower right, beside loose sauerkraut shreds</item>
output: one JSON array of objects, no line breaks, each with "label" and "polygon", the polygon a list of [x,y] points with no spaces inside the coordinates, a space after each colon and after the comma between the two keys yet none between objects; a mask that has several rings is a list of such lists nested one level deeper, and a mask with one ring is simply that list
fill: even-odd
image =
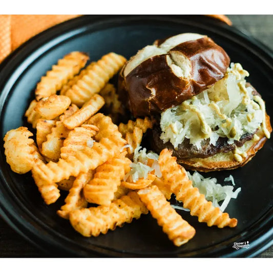
[{"label": "long crinkle-cut fry pointing lower right, beside loose sauerkraut shreds", "polygon": [[190,209],[191,215],[197,216],[199,222],[206,222],[208,226],[217,225],[219,228],[237,225],[236,218],[230,219],[227,213],[221,212],[219,207],[214,207],[211,201],[207,201],[197,187],[193,187],[186,171],[172,157],[171,151],[162,150],[158,162],[163,180],[170,183],[176,199],[182,201],[183,207]]}]

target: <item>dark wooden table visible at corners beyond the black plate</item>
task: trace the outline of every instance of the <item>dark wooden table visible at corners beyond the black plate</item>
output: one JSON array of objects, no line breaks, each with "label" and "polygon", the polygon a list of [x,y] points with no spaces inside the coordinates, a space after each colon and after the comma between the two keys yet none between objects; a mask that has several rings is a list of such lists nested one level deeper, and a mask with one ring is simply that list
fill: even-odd
[{"label": "dark wooden table visible at corners beyond the black plate", "polygon": [[[273,15],[228,15],[234,27],[259,39],[273,50]],[[50,257],[18,235],[0,217],[0,257]],[[272,258],[273,247],[259,255]]]}]

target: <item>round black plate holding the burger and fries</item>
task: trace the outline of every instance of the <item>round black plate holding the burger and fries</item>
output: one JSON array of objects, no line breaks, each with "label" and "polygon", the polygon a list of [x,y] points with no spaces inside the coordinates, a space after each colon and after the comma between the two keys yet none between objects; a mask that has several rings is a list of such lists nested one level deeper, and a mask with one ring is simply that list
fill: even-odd
[{"label": "round black plate holding the burger and fries", "polygon": [[[150,216],[125,224],[97,238],[84,238],[56,215],[64,198],[47,206],[30,174],[18,175],[5,161],[3,137],[22,125],[40,77],[57,59],[74,50],[89,52],[97,60],[110,51],[130,57],[155,39],[197,32],[212,37],[231,60],[249,71],[249,82],[262,94],[267,112],[273,112],[273,58],[269,49],[221,22],[203,16],[83,16],[53,27],[16,50],[1,66],[1,215],[17,232],[57,256],[115,257],[253,257],[272,244],[273,145],[268,140],[246,166],[209,173],[218,181],[232,174],[242,191],[227,207],[238,219],[236,228],[207,227],[187,212],[179,213],[196,228],[196,236],[174,247]],[[234,242],[249,248],[234,249]]]}]

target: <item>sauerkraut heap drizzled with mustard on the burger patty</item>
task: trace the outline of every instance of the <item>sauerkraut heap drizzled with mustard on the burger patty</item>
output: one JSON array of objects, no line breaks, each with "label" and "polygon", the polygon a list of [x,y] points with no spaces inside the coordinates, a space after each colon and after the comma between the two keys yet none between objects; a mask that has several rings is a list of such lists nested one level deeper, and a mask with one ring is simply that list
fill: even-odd
[{"label": "sauerkraut heap drizzled with mustard on the burger patty", "polygon": [[240,64],[231,64],[225,76],[212,87],[161,113],[160,138],[174,148],[185,138],[201,149],[202,141],[216,145],[219,137],[228,144],[240,140],[245,133],[255,133],[264,120],[253,88],[246,87],[248,72]]}]

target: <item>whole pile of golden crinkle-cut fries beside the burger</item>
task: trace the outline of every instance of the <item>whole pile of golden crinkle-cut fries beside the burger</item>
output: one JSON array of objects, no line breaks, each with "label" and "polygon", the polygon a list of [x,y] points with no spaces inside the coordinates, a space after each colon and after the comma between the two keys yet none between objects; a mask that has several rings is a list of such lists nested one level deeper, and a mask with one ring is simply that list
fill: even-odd
[{"label": "whole pile of golden crinkle-cut fries beside the burger", "polygon": [[[84,68],[88,60],[85,53],[71,52],[41,77],[25,114],[36,129],[36,142],[27,127],[10,130],[4,138],[12,171],[31,171],[48,205],[56,202],[60,190],[68,191],[57,214],[86,237],[106,234],[150,212],[174,245],[180,246],[194,237],[195,228],[171,206],[172,194],[200,222],[236,226],[237,219],[230,219],[193,187],[167,149],[158,159],[147,160],[146,176],[134,180],[128,175],[134,151],[143,134],[153,128],[154,119],[115,124],[116,115],[124,112],[109,80],[127,60],[109,53]],[[101,113],[102,107],[110,114]],[[155,163],[160,174],[152,167]]]}]

